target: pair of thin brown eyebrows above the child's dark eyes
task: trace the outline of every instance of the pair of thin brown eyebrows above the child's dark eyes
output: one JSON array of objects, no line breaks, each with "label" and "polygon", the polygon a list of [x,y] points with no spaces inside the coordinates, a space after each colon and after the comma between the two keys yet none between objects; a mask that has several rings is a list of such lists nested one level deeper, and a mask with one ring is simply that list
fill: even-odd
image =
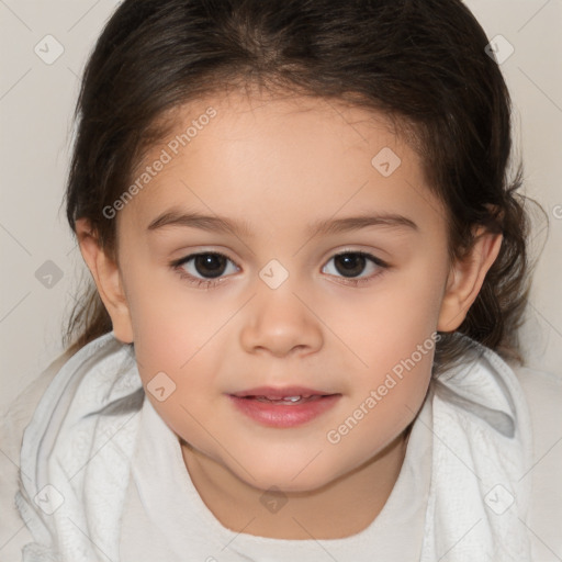
[{"label": "pair of thin brown eyebrows above the child's dark eyes", "polygon": [[[200,213],[186,213],[178,209],[165,211],[148,225],[147,231],[154,232],[168,226],[201,228],[209,232],[233,233],[237,236],[254,237],[246,222],[233,221],[222,216],[203,215]],[[318,235],[325,236],[367,228],[369,226],[419,232],[417,224],[406,216],[395,213],[376,213],[318,221],[308,226],[306,234],[311,237]]]}]

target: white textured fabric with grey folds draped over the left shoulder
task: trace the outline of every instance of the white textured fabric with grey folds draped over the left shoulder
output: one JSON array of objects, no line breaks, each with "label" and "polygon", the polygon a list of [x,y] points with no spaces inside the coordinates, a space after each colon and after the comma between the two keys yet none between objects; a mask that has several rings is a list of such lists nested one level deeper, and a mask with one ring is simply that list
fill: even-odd
[{"label": "white textured fabric with grey folds draped over the left shoulder", "polygon": [[23,435],[15,503],[36,539],[25,562],[117,560],[139,392],[131,351],[112,333],[57,373]]}]

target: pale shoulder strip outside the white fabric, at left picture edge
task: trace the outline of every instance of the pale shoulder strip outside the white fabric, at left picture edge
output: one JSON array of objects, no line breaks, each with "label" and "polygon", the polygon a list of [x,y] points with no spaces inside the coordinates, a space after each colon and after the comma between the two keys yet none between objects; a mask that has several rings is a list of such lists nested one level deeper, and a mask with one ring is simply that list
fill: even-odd
[{"label": "pale shoulder strip outside the white fabric, at left picture edge", "polygon": [[[68,353],[57,357],[38,376],[36,376],[0,415],[0,505],[2,505],[2,526],[0,544],[3,544],[2,560],[21,560],[21,549],[33,540],[15,507],[15,493],[19,488],[20,449],[25,427]],[[22,477],[24,477],[22,475]]]}]

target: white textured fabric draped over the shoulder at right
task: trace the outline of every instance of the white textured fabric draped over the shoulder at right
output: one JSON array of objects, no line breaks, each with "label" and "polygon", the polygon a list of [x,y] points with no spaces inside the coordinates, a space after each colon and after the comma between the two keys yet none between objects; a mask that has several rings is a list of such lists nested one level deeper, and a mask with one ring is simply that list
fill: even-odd
[{"label": "white textured fabric draped over the shoulder at right", "polygon": [[475,346],[468,367],[439,378],[422,562],[531,560],[527,519],[530,418],[515,373]]}]

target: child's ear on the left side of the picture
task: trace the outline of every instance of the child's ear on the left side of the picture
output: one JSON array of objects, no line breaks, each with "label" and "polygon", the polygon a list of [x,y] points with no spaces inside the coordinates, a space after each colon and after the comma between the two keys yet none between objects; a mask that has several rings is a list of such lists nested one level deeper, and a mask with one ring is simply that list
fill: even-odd
[{"label": "child's ear on the left side of the picture", "polygon": [[98,235],[88,218],[76,221],[76,235],[82,258],[88,265],[100,297],[111,316],[113,334],[120,341],[131,344],[133,341],[133,324],[116,261],[100,247]]}]

